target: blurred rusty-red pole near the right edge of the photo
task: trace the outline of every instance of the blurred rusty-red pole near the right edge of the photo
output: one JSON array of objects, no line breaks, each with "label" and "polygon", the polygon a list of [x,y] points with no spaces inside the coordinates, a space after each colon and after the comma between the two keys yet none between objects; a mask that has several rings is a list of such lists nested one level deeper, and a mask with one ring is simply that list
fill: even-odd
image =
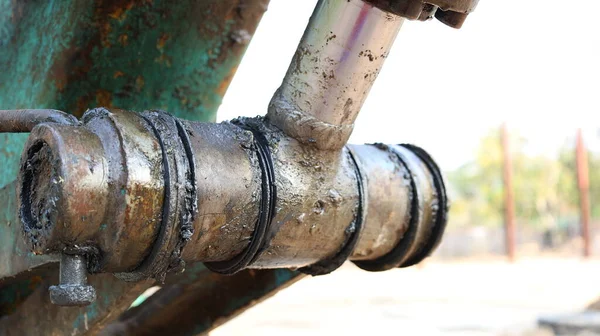
[{"label": "blurred rusty-red pole near the right edge of the photo", "polygon": [[591,255],[590,239],[590,179],[588,168],[588,156],[585,144],[583,142],[583,132],[581,128],[577,130],[577,187],[579,188],[579,206],[581,216],[581,235],[583,238],[583,256]]}]

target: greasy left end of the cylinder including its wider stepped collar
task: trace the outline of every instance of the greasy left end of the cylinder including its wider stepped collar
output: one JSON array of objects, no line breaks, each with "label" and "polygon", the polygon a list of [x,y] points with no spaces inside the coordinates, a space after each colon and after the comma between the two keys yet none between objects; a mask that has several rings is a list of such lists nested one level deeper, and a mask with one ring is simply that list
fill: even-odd
[{"label": "greasy left end of the cylinder including its wider stepped collar", "polygon": [[[43,124],[31,133],[19,175],[23,229],[38,254],[81,250],[95,259],[92,270],[128,271],[156,239],[162,155],[142,118],[91,114],[88,122],[102,132]],[[133,236],[141,244],[129,244]]]}]

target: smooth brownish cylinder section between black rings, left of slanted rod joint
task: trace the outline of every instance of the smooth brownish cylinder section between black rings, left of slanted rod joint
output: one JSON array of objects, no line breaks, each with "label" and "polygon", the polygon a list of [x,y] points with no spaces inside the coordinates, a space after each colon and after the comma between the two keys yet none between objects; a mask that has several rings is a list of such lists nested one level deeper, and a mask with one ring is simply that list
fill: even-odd
[{"label": "smooth brownish cylinder section between black rings, left of slanted rod joint", "polygon": [[248,246],[258,219],[261,174],[253,136],[230,123],[184,125],[198,181],[195,232],[184,259],[227,260]]}]

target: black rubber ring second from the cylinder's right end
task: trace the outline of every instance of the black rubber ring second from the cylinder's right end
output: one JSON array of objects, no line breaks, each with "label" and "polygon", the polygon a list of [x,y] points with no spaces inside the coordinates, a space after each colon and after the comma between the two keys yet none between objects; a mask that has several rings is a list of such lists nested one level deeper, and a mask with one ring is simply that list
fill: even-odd
[{"label": "black rubber ring second from the cylinder's right end", "polygon": [[396,246],[394,246],[394,248],[388,254],[381,256],[377,259],[353,261],[356,266],[366,271],[383,272],[398,267],[406,258],[406,253],[415,241],[419,221],[419,195],[413,175],[411,174],[408,165],[400,156],[400,154],[390,149],[390,147],[388,147],[387,145],[374,144],[373,146],[381,150],[385,150],[391,154],[394,154],[394,156],[398,159],[402,167],[409,173],[410,189],[412,194],[408,230],[404,233],[404,236],[402,237],[402,239],[400,239],[400,242]]}]

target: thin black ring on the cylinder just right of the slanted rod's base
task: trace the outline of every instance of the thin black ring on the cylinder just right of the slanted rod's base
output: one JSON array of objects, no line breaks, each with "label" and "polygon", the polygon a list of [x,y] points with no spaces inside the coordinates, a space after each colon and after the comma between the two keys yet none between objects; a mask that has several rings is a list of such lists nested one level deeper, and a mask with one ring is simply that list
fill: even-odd
[{"label": "thin black ring on the cylinder just right of the slanted rod's base", "polygon": [[354,171],[356,172],[356,180],[358,186],[358,208],[356,210],[356,216],[354,217],[354,221],[346,228],[347,234],[346,241],[342,248],[331,258],[321,260],[315,264],[310,266],[302,267],[298,271],[312,275],[325,275],[329,274],[336,269],[340,268],[348,260],[348,257],[356,248],[356,244],[358,244],[358,240],[360,238],[360,234],[362,233],[363,223],[364,223],[364,206],[365,206],[365,190],[364,190],[364,180],[363,174],[360,171],[358,162],[352,154],[352,151],[348,150],[348,156],[350,157],[350,161],[354,167]]}]

